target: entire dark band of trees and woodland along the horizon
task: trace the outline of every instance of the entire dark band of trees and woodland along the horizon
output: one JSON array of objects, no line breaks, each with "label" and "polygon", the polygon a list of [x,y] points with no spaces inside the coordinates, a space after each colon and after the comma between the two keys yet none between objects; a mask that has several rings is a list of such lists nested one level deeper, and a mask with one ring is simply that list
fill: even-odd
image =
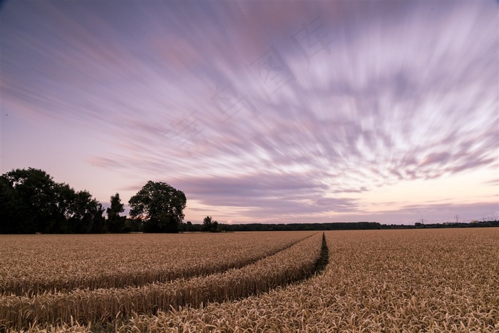
[{"label": "entire dark band of trees and woodland along the horizon", "polygon": [[123,232],[235,232],[284,230],[379,230],[441,227],[499,227],[499,221],[415,225],[378,222],[223,224],[207,216],[202,224],[184,222],[185,194],[166,183],[149,181],[132,198],[130,217],[120,215],[120,195],[110,196],[110,207],[87,190],[56,183],[43,170],[16,169],[0,177],[0,234],[123,233]]}]

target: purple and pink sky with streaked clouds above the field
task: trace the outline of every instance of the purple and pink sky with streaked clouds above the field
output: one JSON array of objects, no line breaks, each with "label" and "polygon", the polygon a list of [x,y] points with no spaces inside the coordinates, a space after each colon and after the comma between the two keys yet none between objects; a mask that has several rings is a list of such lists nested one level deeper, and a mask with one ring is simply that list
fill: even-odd
[{"label": "purple and pink sky with streaked clouds above the field", "polygon": [[497,1],[6,1],[1,173],[185,220],[499,218]]}]

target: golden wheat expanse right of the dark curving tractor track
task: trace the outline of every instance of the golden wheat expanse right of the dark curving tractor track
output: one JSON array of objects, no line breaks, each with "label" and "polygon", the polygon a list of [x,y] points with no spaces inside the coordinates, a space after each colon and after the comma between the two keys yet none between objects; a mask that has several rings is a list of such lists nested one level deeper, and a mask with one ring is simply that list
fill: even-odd
[{"label": "golden wheat expanse right of the dark curving tractor track", "polygon": [[136,316],[120,332],[499,332],[499,229],[326,232],[298,285]]}]

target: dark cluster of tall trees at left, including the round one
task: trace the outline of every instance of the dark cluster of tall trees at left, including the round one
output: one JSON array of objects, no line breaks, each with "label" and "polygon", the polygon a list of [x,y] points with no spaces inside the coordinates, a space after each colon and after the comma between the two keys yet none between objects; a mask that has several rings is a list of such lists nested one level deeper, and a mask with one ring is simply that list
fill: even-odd
[{"label": "dark cluster of tall trees at left, including the round one", "polygon": [[16,169],[0,177],[0,233],[178,232],[185,203],[182,191],[149,181],[130,198],[127,218],[119,193],[104,209],[88,190],[56,183],[40,169]]}]

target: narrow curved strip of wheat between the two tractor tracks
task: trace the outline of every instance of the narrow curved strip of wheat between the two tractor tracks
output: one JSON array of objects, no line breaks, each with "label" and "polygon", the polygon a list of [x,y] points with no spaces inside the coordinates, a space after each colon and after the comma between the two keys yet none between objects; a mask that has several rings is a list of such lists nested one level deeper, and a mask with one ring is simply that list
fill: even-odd
[{"label": "narrow curved strip of wheat between the two tractor tracks", "polygon": [[[321,234],[316,233],[286,250],[251,265],[227,272],[152,283],[141,287],[46,292],[34,297],[0,298],[0,325],[14,329],[37,323],[108,323],[134,313],[155,314],[158,310],[202,307],[225,302],[302,280],[325,265]],[[321,260],[322,259],[322,260]]]}]

